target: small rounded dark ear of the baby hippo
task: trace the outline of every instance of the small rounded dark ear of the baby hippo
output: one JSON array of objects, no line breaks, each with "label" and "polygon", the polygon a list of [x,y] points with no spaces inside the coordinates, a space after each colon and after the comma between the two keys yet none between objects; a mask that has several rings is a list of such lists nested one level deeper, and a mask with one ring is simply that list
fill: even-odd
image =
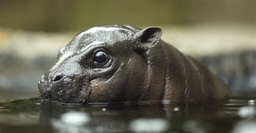
[{"label": "small rounded dark ear of the baby hippo", "polygon": [[161,28],[159,27],[147,27],[143,29],[142,31],[139,31],[134,34],[134,40],[136,41],[135,50],[143,50],[147,51],[154,46],[157,45],[157,43],[160,41],[161,38]]}]

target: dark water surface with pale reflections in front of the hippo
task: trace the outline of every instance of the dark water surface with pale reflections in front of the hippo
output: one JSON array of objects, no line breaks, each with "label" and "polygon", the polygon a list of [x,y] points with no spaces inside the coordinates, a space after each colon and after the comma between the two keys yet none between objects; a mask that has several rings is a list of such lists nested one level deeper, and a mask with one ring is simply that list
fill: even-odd
[{"label": "dark water surface with pale reflections in front of the hippo", "polygon": [[0,132],[255,132],[256,99],[221,105],[0,103]]}]

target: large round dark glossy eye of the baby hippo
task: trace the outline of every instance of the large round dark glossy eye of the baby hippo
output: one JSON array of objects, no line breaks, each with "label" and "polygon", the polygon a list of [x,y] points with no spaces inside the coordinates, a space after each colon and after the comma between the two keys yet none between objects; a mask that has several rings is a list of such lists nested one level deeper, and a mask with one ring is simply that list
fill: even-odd
[{"label": "large round dark glossy eye of the baby hippo", "polygon": [[97,50],[93,54],[93,61],[96,65],[103,66],[109,62],[109,55],[107,55],[105,50]]}]

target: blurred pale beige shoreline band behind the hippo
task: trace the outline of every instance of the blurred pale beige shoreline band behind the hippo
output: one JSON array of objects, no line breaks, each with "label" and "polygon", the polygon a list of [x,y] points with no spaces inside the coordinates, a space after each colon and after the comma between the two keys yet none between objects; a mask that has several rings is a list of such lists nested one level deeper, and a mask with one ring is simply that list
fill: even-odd
[{"label": "blurred pale beige shoreline band behind the hippo", "polygon": [[[185,54],[214,55],[256,49],[256,24],[203,23],[159,27],[163,29],[161,39]],[[84,30],[86,29],[81,29]],[[24,58],[33,58],[37,55],[52,57],[57,56],[58,50],[68,44],[76,34],[32,32],[0,27],[0,48],[2,53],[12,52]]]}]

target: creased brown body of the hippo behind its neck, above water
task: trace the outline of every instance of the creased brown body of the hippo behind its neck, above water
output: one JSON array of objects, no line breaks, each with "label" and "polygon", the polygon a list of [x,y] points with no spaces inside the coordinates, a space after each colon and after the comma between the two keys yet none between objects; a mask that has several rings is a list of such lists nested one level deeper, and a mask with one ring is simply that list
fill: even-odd
[{"label": "creased brown body of the hippo behind its neck, above water", "polygon": [[[164,53],[161,54],[164,58],[162,62],[165,64],[162,100],[193,103],[225,97],[225,85],[204,65],[167,43],[162,42],[161,48]],[[214,89],[218,93],[214,93]]]}]

